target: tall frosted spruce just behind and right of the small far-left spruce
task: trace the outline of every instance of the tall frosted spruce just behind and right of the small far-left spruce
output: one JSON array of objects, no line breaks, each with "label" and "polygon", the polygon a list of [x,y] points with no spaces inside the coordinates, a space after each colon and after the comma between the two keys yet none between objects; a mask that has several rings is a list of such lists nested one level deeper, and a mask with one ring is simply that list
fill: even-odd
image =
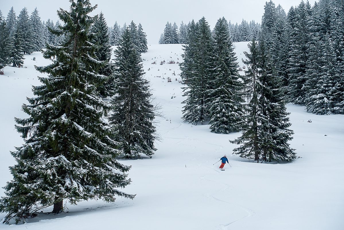
[{"label": "tall frosted spruce just behind and right of the small far-left spruce", "polygon": [[18,33],[22,39],[22,48],[24,54],[32,53],[33,40],[32,40],[32,28],[29,21],[28,10],[23,8],[18,16]]}]

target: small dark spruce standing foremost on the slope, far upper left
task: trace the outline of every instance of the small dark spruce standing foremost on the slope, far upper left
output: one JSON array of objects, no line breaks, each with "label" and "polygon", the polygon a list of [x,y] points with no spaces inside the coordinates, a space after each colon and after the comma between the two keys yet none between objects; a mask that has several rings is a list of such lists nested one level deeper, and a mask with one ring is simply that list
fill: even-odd
[{"label": "small dark spruce standing foremost on the slope, far upper left", "polygon": [[23,40],[19,34],[19,29],[14,32],[10,41],[8,60],[13,67],[20,67],[24,64]]}]

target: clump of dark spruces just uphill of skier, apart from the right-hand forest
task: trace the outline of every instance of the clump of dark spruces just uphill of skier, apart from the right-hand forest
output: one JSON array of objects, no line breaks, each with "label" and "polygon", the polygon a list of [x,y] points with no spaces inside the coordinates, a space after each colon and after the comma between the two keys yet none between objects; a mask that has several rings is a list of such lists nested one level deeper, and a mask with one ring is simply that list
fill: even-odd
[{"label": "clump of dark spruces just uphill of skier, apart from the right-hand forest", "polygon": [[240,76],[228,22],[220,18],[211,32],[205,18],[187,30],[181,77],[185,84],[183,119],[210,124],[215,133],[243,131],[232,143],[241,157],[262,161],[291,161],[293,131],[286,112],[287,98],[277,75],[266,38],[252,39]]}]

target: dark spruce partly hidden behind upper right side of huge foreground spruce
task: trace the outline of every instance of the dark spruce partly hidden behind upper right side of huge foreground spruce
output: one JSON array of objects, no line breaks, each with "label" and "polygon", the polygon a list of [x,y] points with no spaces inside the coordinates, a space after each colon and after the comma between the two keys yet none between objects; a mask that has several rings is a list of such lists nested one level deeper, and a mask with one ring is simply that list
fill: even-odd
[{"label": "dark spruce partly hidden behind upper right side of huge foreground spruce", "polygon": [[[98,73],[102,76],[97,82],[97,91],[103,97],[112,96],[115,94],[115,78],[112,74],[111,59],[111,46],[110,36],[104,14],[100,12],[99,16],[95,17],[94,23],[91,27],[93,33],[92,43],[95,45],[95,55],[97,60],[103,62],[103,66],[99,69]],[[104,81],[106,77],[106,81]]]}]

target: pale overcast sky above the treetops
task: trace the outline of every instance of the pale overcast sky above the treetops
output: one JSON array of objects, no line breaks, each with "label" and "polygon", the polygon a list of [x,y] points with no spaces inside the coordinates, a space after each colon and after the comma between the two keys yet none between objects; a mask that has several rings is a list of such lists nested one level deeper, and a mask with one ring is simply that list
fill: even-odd
[{"label": "pale overcast sky above the treetops", "polygon": [[[4,17],[13,6],[17,16],[22,8],[28,8],[31,13],[35,7],[39,10],[41,19],[48,18],[54,22],[58,20],[56,11],[59,8],[69,10],[67,0],[0,0],[0,10]],[[117,21],[121,26],[133,20],[141,23],[147,34],[148,43],[156,44],[167,21],[176,22],[178,27],[182,21],[199,20],[203,16],[211,28],[218,18],[225,17],[232,23],[244,18],[247,21],[261,22],[266,0],[90,0],[98,4],[95,14],[102,11],[109,26]],[[288,12],[291,6],[298,5],[301,0],[275,0],[276,6],[281,4]],[[312,1],[311,1],[312,2]]]}]

